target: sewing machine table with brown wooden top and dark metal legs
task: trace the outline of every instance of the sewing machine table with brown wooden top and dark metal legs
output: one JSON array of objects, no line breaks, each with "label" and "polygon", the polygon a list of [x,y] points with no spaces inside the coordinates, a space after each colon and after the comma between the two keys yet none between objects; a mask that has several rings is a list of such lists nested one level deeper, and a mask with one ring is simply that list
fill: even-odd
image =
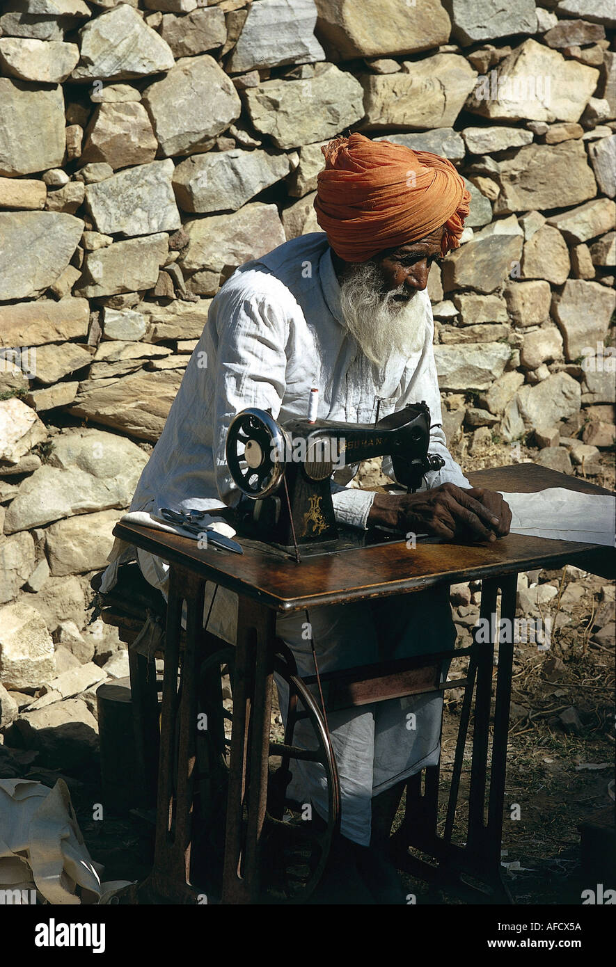
[{"label": "sewing machine table with brown wooden top and dark metal legs", "polygon": [[[586,493],[608,493],[587,481],[531,463],[482,470],[468,474],[468,477],[474,486],[506,492],[533,492],[561,486]],[[206,582],[215,582],[237,592],[239,596],[235,661],[237,683],[233,695],[221,900],[223,903],[250,903],[256,902],[259,895],[259,837],[266,808],[266,749],[273,689],[271,642],[275,640],[277,614],[303,611],[315,605],[364,601],[426,591],[443,584],[481,580],[481,617],[489,622],[490,615],[496,612],[496,596],[500,590],[501,621],[509,619],[513,628],[518,572],[542,568],[553,570],[566,564],[605,577],[612,577],[615,572],[615,555],[611,547],[548,541],[514,534],[485,544],[418,542],[412,549],[404,541],[387,542],[353,552],[307,557],[297,564],[293,560],[280,560],[253,544],[245,544],[244,554],[239,555],[220,553],[214,549],[199,550],[197,543],[189,538],[134,524],[120,522],[113,533],[170,564],[155,864],[146,881],[149,895],[163,903],[197,901],[197,892],[190,886],[189,869],[196,706],[192,693],[194,689],[180,689],[178,696],[177,674],[182,601],[186,601],[188,607],[186,649],[182,659],[184,674],[185,666],[190,667],[191,662],[194,664],[196,661],[196,642],[201,634]],[[242,543],[242,539],[238,540]],[[412,840],[408,845],[433,857],[437,861],[438,871],[445,874],[446,881],[453,882],[459,879],[460,874],[470,874],[489,882],[492,899],[500,901],[507,899],[507,891],[500,879],[500,845],[513,647],[513,643],[499,643],[491,761],[488,744],[494,642],[483,643],[481,651],[475,653],[477,677],[466,842],[463,846],[452,842],[463,741],[461,748],[459,742],[456,748],[456,788],[453,804],[450,797],[445,836],[436,834],[438,767],[426,771],[424,793],[420,792],[421,776],[409,780],[407,810],[410,808],[411,787],[415,790],[415,806],[419,808],[415,809],[412,822],[402,824],[404,834]],[[475,648],[478,648],[477,644]],[[472,649],[467,650],[470,651]],[[480,659],[477,659],[478,654],[481,655]],[[461,718],[466,719],[467,725],[471,712],[470,699],[468,703],[465,699],[465,705]],[[172,736],[176,737],[174,741],[170,738]],[[488,761],[489,793],[486,804]],[[180,768],[177,768],[177,763],[180,763]],[[177,768],[177,775],[173,775],[174,768]],[[414,779],[417,781],[413,784]],[[173,835],[170,833],[171,827]],[[425,878],[434,876],[436,871],[433,865],[417,858],[411,859],[408,849],[404,849],[403,854],[405,856],[402,855],[399,868],[420,874],[423,870]]]}]

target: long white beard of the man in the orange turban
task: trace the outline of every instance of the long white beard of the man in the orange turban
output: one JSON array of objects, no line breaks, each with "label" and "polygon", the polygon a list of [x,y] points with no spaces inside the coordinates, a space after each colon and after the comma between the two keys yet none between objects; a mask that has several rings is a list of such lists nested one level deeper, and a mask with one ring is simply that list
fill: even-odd
[{"label": "long white beard of the man in the orange turban", "polygon": [[374,262],[358,262],[340,281],[340,308],[346,327],[367,359],[384,366],[392,353],[408,359],[424,345],[428,310],[419,290],[404,302],[400,285],[381,291],[383,276]]}]

